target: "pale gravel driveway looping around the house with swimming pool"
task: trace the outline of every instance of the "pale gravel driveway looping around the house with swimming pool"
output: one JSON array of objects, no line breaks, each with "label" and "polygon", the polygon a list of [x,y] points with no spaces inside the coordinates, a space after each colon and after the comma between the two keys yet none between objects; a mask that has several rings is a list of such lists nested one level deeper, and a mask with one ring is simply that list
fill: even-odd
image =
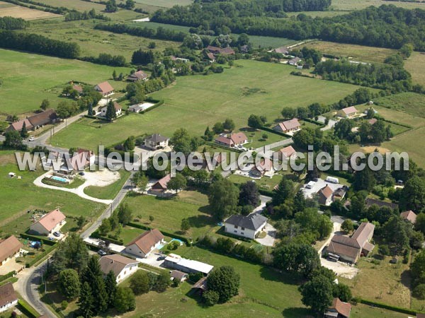
[{"label": "pale gravel driveway looping around the house with swimming pool", "polygon": [[55,187],[50,184],[44,184],[41,182],[41,180],[47,176],[50,175],[52,172],[46,172],[43,175],[40,175],[37,179],[34,180],[34,184],[38,187],[43,187],[47,189],[54,189],[54,190],[60,190],[64,192],[71,192],[74,194],[77,194],[77,196],[80,196],[83,199],[99,202],[101,204],[111,204],[113,200],[107,200],[107,199],[97,199],[93,196],[88,196],[84,193],[84,188],[89,186],[96,186],[96,187],[106,187],[108,184],[112,184],[113,182],[120,179],[120,173],[119,172],[113,172],[111,170],[102,170],[102,171],[94,171],[94,172],[84,172],[84,179],[86,179],[86,182],[84,184],[81,184],[81,186],[74,188],[74,189],[68,189],[63,187]]}]

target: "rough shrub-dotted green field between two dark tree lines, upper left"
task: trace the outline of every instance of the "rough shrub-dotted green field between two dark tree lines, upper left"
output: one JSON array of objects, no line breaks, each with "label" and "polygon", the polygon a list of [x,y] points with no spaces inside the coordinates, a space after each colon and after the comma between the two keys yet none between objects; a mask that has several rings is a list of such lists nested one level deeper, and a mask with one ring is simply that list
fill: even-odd
[{"label": "rough shrub-dotted green field between two dark tree lines, upper left", "polygon": [[81,56],[83,57],[97,57],[99,53],[108,53],[123,55],[127,61],[131,61],[132,53],[137,49],[147,49],[150,42],[155,42],[155,51],[163,51],[166,47],[178,47],[180,45],[178,42],[152,40],[147,37],[94,30],[92,20],[69,22],[57,19],[39,20],[36,23],[31,23],[28,30],[31,33],[44,35],[55,40],[76,42],[81,47]]}]

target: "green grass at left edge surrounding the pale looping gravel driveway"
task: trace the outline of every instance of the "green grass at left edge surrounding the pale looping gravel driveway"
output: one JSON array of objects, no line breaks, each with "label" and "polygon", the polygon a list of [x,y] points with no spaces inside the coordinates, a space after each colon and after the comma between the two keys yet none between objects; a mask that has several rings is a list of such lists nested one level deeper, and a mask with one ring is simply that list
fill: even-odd
[{"label": "green grass at left edge surrounding the pale looping gravel driveway", "polygon": [[[21,179],[8,177],[15,172]],[[47,211],[60,208],[68,217],[98,216],[105,206],[81,199],[76,194],[36,187],[33,180],[44,173],[19,171],[12,152],[0,152],[0,228],[7,232],[24,232],[30,225],[28,210],[41,208]],[[72,223],[69,223],[72,224]]]}]

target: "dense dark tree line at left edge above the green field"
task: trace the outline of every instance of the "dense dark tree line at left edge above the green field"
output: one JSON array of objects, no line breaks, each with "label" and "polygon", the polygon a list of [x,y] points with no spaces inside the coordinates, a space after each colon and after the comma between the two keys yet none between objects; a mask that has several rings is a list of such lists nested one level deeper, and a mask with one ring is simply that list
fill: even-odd
[{"label": "dense dark tree line at left edge above the green field", "polygon": [[80,47],[77,43],[52,40],[42,35],[17,33],[11,30],[0,30],[0,47],[21,49],[67,59],[76,59],[80,54]]}]

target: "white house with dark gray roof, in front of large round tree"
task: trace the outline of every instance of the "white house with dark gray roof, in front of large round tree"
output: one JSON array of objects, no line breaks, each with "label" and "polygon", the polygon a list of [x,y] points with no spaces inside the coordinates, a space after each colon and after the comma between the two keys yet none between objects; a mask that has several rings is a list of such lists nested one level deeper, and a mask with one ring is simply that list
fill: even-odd
[{"label": "white house with dark gray roof, in front of large round tree", "polygon": [[267,218],[261,214],[251,213],[249,216],[234,214],[225,220],[225,232],[254,239],[266,224]]}]

